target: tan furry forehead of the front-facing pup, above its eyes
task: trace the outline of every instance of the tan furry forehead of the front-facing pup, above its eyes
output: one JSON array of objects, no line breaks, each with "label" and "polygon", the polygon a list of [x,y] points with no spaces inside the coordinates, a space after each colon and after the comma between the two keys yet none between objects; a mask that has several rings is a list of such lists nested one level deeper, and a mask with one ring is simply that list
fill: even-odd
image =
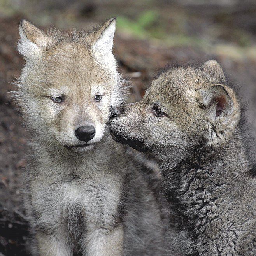
[{"label": "tan furry forehead of the front-facing pup, above its eyes", "polygon": [[111,72],[91,54],[88,46],[65,43],[51,47],[40,67],[44,82],[55,86],[108,84],[113,82]]}]

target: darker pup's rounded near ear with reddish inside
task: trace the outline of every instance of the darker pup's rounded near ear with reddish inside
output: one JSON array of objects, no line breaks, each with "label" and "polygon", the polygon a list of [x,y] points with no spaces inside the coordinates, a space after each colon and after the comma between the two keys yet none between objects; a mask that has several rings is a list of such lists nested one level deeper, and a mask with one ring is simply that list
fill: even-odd
[{"label": "darker pup's rounded near ear with reddish inside", "polygon": [[240,106],[235,92],[229,86],[212,84],[198,93],[198,105],[207,123],[209,144],[219,145],[234,131],[240,120]]}]

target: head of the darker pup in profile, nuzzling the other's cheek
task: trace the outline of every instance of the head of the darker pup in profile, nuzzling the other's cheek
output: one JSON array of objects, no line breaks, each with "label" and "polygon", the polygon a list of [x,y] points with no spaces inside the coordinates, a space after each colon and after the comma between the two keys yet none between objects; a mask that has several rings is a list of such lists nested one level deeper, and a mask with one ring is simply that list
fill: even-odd
[{"label": "head of the darker pup in profile, nuzzling the other's cheek", "polygon": [[156,159],[181,161],[189,152],[223,145],[235,130],[239,109],[223,69],[209,60],[198,68],[163,71],[142,100],[116,108],[110,132]]}]

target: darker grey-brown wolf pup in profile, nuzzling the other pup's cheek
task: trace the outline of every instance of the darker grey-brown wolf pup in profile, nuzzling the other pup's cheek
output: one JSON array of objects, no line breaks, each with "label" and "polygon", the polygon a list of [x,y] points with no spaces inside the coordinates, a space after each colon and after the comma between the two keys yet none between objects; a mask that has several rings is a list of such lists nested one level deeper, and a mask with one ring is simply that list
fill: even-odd
[{"label": "darker grey-brown wolf pup in profile, nuzzling the other pup's cheek", "polygon": [[160,163],[196,255],[256,255],[256,184],[240,104],[219,63],[168,68],[114,116],[113,137]]}]

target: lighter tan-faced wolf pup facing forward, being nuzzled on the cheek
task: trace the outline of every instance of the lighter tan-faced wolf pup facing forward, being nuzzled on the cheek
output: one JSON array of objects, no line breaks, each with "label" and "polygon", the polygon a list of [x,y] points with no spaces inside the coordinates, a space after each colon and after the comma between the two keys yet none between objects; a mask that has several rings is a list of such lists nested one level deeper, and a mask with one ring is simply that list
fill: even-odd
[{"label": "lighter tan-faced wolf pup facing forward, being nuzzled on the cheek", "polygon": [[16,96],[32,132],[25,190],[34,254],[163,253],[154,173],[105,130],[110,105],[123,100],[115,23],[70,34],[20,23],[26,63]]}]

